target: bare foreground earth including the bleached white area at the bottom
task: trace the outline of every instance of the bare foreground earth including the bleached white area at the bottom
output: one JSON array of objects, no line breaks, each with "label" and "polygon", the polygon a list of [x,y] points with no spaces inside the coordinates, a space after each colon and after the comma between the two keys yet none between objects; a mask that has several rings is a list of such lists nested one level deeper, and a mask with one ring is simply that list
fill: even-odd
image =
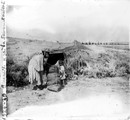
[{"label": "bare foreground earth including the bleached white area at the bottom", "polygon": [[[52,117],[59,117],[60,114],[62,117],[74,116],[75,118],[76,116],[83,115],[88,115],[87,117],[90,115],[99,115],[100,117],[109,115],[110,119],[112,119],[114,115],[120,115],[119,118],[124,117],[124,120],[128,115],[123,115],[130,112],[130,88],[127,78],[88,79],[81,76],[78,80],[68,82],[65,88],[60,92],[51,92],[47,89],[33,91],[30,87],[9,93],[8,98],[8,112],[9,114],[14,112],[12,115],[9,115],[9,118],[19,118],[21,115],[29,118],[43,118],[49,117],[49,115],[53,113]],[[74,100],[78,102],[75,103]],[[70,102],[70,104],[69,101],[73,102]],[[67,103],[69,104],[67,105]],[[72,105],[74,103],[75,105]],[[46,105],[50,106],[54,104],[61,106],[61,108],[58,109],[59,114],[56,116],[56,108],[53,108],[53,112],[48,111],[49,113],[44,114],[46,110],[43,110],[43,108],[45,109]],[[66,104],[65,106],[67,108],[65,108],[64,104]],[[26,110],[28,109],[27,106],[28,108],[34,106],[31,108],[31,111],[36,113],[33,114],[30,110]],[[39,107],[38,111],[37,107]],[[25,110],[26,112],[21,112],[20,108],[23,108],[21,111]],[[71,114],[67,112],[69,109],[73,111]],[[76,109],[79,110],[78,114],[74,112]],[[80,112],[80,110],[82,112]],[[83,110],[86,112],[83,112]],[[40,116],[38,114],[39,112],[41,113]]]}]

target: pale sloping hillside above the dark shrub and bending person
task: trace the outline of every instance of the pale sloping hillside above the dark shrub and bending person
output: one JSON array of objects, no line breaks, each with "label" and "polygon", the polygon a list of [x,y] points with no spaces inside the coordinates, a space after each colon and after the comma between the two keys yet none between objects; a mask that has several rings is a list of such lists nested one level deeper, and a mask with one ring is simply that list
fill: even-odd
[{"label": "pale sloping hillside above the dark shrub and bending person", "polygon": [[48,41],[29,40],[20,38],[8,38],[7,41],[7,59],[13,59],[18,64],[23,64],[32,54],[37,53],[46,48],[62,49],[71,44],[59,44]]}]

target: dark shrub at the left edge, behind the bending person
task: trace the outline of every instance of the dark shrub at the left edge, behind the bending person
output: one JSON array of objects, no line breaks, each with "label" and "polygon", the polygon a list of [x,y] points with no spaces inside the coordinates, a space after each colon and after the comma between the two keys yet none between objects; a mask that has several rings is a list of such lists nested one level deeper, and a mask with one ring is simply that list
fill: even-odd
[{"label": "dark shrub at the left edge, behind the bending person", "polygon": [[27,66],[18,65],[13,59],[7,59],[7,86],[21,87],[28,84]]}]

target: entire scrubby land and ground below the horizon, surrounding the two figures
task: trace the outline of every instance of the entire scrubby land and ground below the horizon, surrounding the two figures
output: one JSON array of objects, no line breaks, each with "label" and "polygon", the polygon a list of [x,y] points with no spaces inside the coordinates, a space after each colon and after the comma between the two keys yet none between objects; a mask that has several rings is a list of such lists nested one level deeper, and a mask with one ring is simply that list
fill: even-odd
[{"label": "entire scrubby land and ground below the horizon, surrounding the two figures", "polygon": [[[67,55],[66,72],[68,74],[67,85],[59,92],[54,93],[44,89],[33,91],[33,85],[28,84],[27,65],[31,56],[41,49],[58,49]],[[82,45],[78,41],[73,43],[54,43],[48,41],[32,41],[18,38],[8,38],[7,42],[7,95],[8,95],[8,116],[12,117],[45,117],[41,111],[48,105],[67,105],[70,110],[76,108],[80,111],[86,108],[88,116],[124,115],[130,107],[130,51],[124,49],[113,49],[110,46]],[[13,76],[13,77],[12,77]],[[56,72],[49,74],[51,86],[57,81]],[[83,99],[82,104],[80,99]],[[75,101],[75,109],[69,101]],[[91,100],[93,101],[91,103]],[[86,101],[86,102],[85,102]],[[102,101],[102,102],[101,102]],[[103,103],[106,101],[105,103]],[[56,104],[57,103],[57,104]],[[72,102],[73,104],[73,102]],[[108,105],[110,104],[110,106]],[[37,105],[38,108],[34,108]],[[41,108],[40,108],[40,106]],[[80,107],[78,105],[81,105]],[[100,107],[101,109],[100,109]],[[105,106],[105,107],[104,107]],[[114,106],[114,107],[113,107]],[[34,109],[30,109],[30,108]],[[65,106],[64,106],[65,107]],[[97,107],[97,112],[94,112]],[[108,108],[107,108],[108,107]],[[23,108],[23,109],[21,109]],[[93,108],[93,109],[91,109]],[[47,107],[47,109],[51,109]],[[109,110],[108,110],[109,109]],[[36,110],[38,110],[37,114]],[[105,112],[106,110],[106,112]],[[107,111],[108,110],[108,111]],[[26,111],[26,112],[21,112]],[[50,111],[49,114],[66,114],[64,108],[57,113]],[[83,110],[72,113],[73,116],[85,115]],[[110,112],[111,111],[111,112]],[[39,114],[38,114],[39,113]],[[41,114],[40,114],[41,113]],[[110,113],[110,114],[109,114]],[[46,117],[48,117],[46,116]],[[58,116],[58,115],[57,115]],[[86,116],[87,117],[87,116]],[[122,120],[128,117],[125,116]]]}]

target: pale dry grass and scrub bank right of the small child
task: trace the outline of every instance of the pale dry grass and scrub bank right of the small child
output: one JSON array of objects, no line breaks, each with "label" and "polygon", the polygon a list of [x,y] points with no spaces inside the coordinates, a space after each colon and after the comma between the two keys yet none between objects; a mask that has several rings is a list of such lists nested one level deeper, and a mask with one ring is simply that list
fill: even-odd
[{"label": "pale dry grass and scrub bank right of the small child", "polygon": [[72,69],[72,74],[85,75],[88,78],[121,77],[130,74],[128,54],[106,51],[95,58],[88,55],[86,59],[83,59],[82,55],[84,54],[80,53],[80,57],[73,55],[74,57],[69,58],[68,69]]}]

